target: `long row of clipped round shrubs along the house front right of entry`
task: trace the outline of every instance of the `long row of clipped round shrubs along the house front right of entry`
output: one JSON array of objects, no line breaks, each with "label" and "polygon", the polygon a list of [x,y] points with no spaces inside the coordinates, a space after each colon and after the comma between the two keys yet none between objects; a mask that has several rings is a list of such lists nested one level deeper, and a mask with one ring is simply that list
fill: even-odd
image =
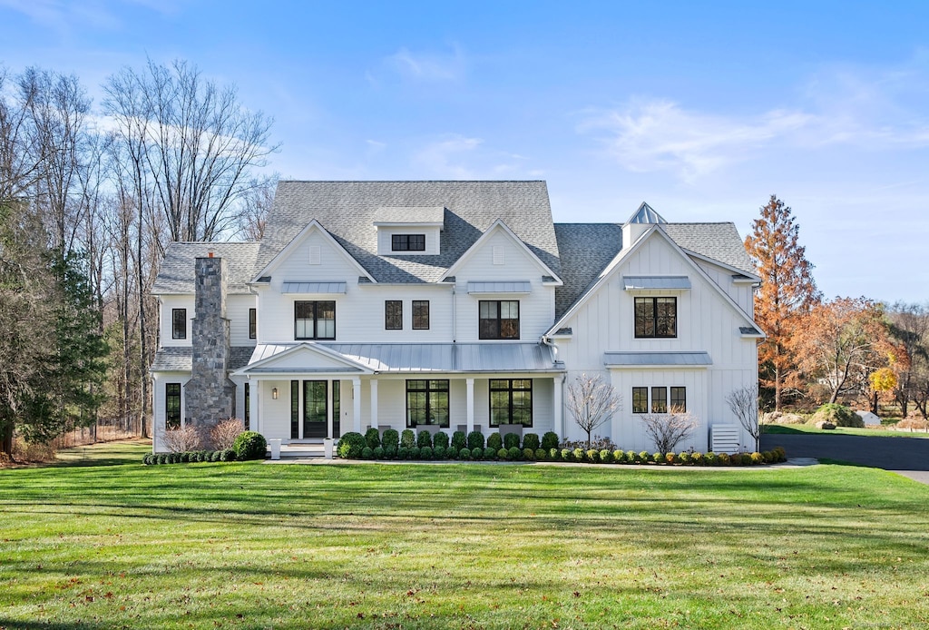
[{"label": "long row of clipped round shrubs along the house front right of entry", "polygon": [[[409,431],[409,429],[407,430]],[[390,436],[388,439],[387,434],[391,431],[394,435],[397,435],[397,431],[394,429],[387,429],[380,442],[375,442],[373,440],[374,436],[372,431],[377,432],[377,429],[370,429],[368,433],[363,436],[355,432],[349,432],[343,435],[337,448],[339,457],[343,459],[369,460],[481,460],[579,462],[588,464],[663,464],[678,466],[757,466],[760,464],[776,464],[787,460],[787,453],[785,453],[784,449],[781,447],[777,447],[773,451],[765,451],[764,453],[734,453],[731,455],[726,453],[694,453],[690,451],[682,453],[648,453],[648,451],[642,451],[640,453],[635,453],[634,451],[610,451],[608,449],[600,451],[595,449],[584,450],[580,448],[558,449],[556,447],[544,449],[541,445],[536,449],[528,447],[519,448],[516,445],[507,448],[505,442],[502,442],[499,447],[496,444],[496,440],[491,442],[493,438],[492,435],[491,438],[487,440],[487,446],[478,444],[478,440],[470,440],[471,435],[477,433],[477,431],[475,431],[473,434],[467,436],[461,448],[457,448],[456,442],[462,443],[462,440],[456,440],[456,437],[458,437],[458,434],[464,436],[461,431],[455,432],[456,435],[452,436],[448,447],[443,446],[441,443],[439,443],[438,446],[429,445],[425,439],[416,440],[415,438],[408,437],[407,440],[400,438],[400,440],[395,441],[394,436]],[[403,433],[406,434],[407,431]],[[412,435],[412,431],[409,431],[409,434]],[[429,436],[427,431],[421,431],[420,438],[422,438],[424,434]],[[493,435],[499,434],[495,433]],[[436,434],[436,438],[438,438],[438,436],[444,436],[445,440],[448,440],[448,436],[444,433]],[[526,437],[528,437],[528,435]],[[438,440],[444,441],[440,438]],[[526,438],[524,437],[523,442],[525,443],[525,441]],[[483,442],[483,436],[481,436],[480,442]],[[373,443],[377,445],[372,446]],[[386,443],[387,446],[382,445],[382,443]],[[421,443],[424,445],[420,446],[419,444]],[[432,440],[432,443],[434,444],[435,440]],[[472,444],[474,444],[473,447]]]}]

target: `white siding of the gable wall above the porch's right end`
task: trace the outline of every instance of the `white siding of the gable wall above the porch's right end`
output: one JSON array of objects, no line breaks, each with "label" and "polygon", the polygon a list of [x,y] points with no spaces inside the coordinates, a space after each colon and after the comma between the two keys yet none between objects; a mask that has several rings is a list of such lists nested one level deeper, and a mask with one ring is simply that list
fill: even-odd
[{"label": "white siding of the gable wall above the porch's right end", "polygon": [[[478,341],[478,302],[518,300],[519,338],[536,341],[555,321],[555,288],[539,262],[504,230],[495,230],[455,269],[457,341]],[[530,293],[468,294],[468,282],[530,282]]]}]

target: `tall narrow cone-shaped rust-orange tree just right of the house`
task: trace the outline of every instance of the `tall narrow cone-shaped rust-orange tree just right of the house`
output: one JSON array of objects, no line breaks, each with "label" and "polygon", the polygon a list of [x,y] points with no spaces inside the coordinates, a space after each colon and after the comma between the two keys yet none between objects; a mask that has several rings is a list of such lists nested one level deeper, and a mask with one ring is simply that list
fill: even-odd
[{"label": "tall narrow cone-shaped rust-orange tree just right of the house", "polygon": [[745,239],[745,249],[762,279],[755,295],[754,317],[767,339],[758,347],[758,375],[763,387],[774,390],[776,411],[780,411],[785,388],[801,385],[792,337],[798,322],[820,299],[813,265],[806,259],[799,233],[790,206],[771,195]]}]

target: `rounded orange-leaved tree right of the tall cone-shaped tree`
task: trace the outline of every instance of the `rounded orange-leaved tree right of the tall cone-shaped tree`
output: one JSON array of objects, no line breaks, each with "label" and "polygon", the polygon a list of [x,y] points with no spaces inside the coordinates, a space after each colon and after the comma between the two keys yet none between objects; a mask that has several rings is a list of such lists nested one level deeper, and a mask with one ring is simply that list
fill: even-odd
[{"label": "rounded orange-leaved tree right of the tall cone-shaped tree", "polygon": [[791,345],[805,374],[828,387],[830,402],[842,393],[861,393],[869,374],[886,367],[899,351],[890,339],[883,305],[864,297],[836,297],[817,305]]}]

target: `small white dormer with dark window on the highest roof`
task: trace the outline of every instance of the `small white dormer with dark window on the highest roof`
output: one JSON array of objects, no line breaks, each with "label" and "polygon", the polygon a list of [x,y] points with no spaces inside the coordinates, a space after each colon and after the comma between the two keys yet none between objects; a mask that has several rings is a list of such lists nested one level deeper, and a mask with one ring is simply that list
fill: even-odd
[{"label": "small white dormer with dark window on the highest roof", "polygon": [[438,256],[445,207],[386,206],[374,212],[379,256]]}]

